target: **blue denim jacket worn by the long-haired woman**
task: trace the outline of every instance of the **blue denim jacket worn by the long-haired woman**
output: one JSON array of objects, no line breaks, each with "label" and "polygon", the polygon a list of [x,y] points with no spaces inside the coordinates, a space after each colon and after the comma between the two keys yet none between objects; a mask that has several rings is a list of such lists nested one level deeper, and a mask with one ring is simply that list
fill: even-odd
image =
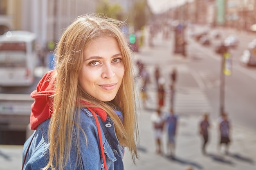
[{"label": "blue denim jacket worn by the long-haired woman", "polygon": [[[110,119],[107,117],[106,121],[99,119],[101,126],[101,136],[103,148],[105,152],[106,164],[108,170],[124,170],[123,154],[124,147],[119,145],[119,141],[115,134],[115,127]],[[25,158],[27,148],[31,141],[31,146],[27,152],[25,165],[23,170],[40,170],[44,168],[49,161],[49,142],[47,129],[49,126],[49,119],[43,121],[35,130],[34,134],[27,139],[24,144],[22,156]],[[103,170],[103,159],[100,151],[99,135],[96,126],[96,121],[92,113],[87,108],[80,109],[79,126],[85,131],[79,130],[79,156],[77,157],[77,126],[73,126],[74,132],[72,137],[72,148],[70,152],[70,160],[67,162],[65,170]],[[86,144],[87,141],[87,144]]]}]

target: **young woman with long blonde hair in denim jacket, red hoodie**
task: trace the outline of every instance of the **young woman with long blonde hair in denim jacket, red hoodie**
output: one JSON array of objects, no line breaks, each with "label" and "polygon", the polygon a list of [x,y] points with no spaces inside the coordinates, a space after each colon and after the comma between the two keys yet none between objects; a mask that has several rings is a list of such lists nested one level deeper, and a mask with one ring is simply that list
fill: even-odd
[{"label": "young woman with long blonde hair in denim jacket, red hoodie", "polygon": [[56,47],[56,70],[39,82],[31,106],[34,134],[23,170],[124,170],[138,137],[131,51],[121,22],[83,15]]}]

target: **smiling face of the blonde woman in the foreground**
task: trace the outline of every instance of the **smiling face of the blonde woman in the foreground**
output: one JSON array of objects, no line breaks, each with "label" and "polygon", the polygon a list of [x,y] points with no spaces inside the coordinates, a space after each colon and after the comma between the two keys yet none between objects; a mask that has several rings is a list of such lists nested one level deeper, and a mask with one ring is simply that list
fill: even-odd
[{"label": "smiling face of the blonde woman in the foreground", "polygon": [[103,36],[83,51],[79,82],[86,93],[103,102],[115,98],[124,77],[124,61],[117,40]]}]

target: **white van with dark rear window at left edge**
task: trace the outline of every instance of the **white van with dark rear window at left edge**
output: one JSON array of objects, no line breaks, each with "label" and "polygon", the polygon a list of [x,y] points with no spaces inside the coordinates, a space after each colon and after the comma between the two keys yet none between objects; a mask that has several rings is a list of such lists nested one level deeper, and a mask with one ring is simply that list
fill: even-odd
[{"label": "white van with dark rear window at left edge", "polygon": [[8,31],[0,36],[0,86],[30,86],[34,82],[36,35]]}]

